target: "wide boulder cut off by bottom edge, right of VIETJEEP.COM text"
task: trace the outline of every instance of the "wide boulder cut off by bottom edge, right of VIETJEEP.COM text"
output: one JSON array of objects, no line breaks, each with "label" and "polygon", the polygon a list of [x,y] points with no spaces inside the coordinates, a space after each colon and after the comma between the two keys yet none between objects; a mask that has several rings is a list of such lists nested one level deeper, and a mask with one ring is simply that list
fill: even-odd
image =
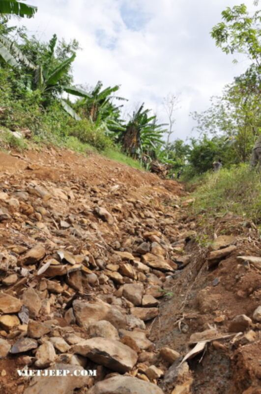
[{"label": "wide boulder cut off by bottom edge, right of VIETJEEP.COM text", "polygon": [[163,391],[158,386],[141,379],[114,376],[96,383],[87,394],[163,394]]}]

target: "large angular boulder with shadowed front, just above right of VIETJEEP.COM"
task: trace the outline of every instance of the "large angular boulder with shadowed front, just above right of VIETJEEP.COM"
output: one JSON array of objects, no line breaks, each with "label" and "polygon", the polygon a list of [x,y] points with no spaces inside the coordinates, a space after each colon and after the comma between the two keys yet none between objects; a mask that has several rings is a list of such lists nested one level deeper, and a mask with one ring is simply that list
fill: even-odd
[{"label": "large angular boulder with shadowed front, just above right of VIETJEEP.COM", "polygon": [[130,371],[138,360],[137,353],[114,339],[96,337],[73,347],[73,352],[116,372]]}]

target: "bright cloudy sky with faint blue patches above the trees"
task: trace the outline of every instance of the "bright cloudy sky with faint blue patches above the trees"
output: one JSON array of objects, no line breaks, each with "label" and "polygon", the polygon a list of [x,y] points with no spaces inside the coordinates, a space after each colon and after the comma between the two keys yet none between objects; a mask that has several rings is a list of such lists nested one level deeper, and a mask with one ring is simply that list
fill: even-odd
[{"label": "bright cloudy sky with faint blue patches above the trees", "polygon": [[254,9],[253,0],[28,0],[38,12],[21,24],[43,40],[54,33],[76,38],[83,50],[75,83],[120,84],[129,113],[145,102],[166,121],[163,98],[180,94],[172,139],[185,139],[192,135],[189,113],[206,109],[247,67],[243,59],[232,64],[209,34],[221,11],[241,2]]}]

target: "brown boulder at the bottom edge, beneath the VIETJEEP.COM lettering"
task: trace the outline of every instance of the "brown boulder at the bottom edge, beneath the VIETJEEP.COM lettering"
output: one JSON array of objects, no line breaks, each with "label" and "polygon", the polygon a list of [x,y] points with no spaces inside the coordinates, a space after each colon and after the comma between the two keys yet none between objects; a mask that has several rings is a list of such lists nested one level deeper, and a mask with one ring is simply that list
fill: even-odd
[{"label": "brown boulder at the bottom edge, beneath the VIETJEEP.COM lettering", "polygon": [[67,370],[65,376],[34,376],[29,383],[29,387],[24,394],[73,394],[74,389],[80,389],[87,385],[89,376],[79,376],[74,371],[82,371],[84,368],[79,365],[54,364],[48,369]]}]

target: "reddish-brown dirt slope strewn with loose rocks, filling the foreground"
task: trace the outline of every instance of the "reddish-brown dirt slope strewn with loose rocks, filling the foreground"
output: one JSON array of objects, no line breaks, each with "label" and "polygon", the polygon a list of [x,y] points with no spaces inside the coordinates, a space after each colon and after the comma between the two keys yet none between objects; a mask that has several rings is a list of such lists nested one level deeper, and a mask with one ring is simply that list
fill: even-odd
[{"label": "reddish-brown dirt slope strewn with loose rocks, filling the foreground", "polygon": [[1,394],[261,393],[251,223],[202,247],[174,181],[53,148],[0,168]]}]

